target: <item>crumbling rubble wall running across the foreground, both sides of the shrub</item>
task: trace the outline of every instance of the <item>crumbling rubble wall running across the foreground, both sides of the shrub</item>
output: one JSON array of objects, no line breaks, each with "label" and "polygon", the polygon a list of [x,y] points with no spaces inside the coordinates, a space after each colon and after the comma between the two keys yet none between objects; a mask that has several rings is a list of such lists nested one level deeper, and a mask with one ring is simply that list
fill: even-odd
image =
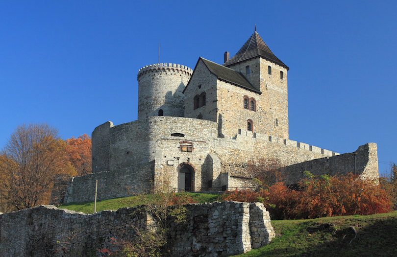
[{"label": "crumbling rubble wall running across the foreground, both sides of the shrub", "polygon": [[[261,203],[215,202],[185,205],[187,222],[171,223],[173,256],[215,257],[246,253],[270,243],[274,230]],[[39,206],[0,215],[0,256],[103,256],[114,239],[133,240],[135,228],[155,227],[139,208],[85,214]]]}]

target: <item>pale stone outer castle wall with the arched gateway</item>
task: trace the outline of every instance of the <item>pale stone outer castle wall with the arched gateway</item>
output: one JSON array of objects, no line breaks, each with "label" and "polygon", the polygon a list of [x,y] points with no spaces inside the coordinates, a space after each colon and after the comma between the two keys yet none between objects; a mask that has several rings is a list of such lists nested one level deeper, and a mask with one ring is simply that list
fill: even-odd
[{"label": "pale stone outer castle wall with the arched gateway", "polygon": [[[218,138],[217,126],[216,122],[195,118],[148,117],[110,127],[110,149],[104,151],[115,158],[105,160],[111,169],[75,177],[69,182],[64,202],[93,201],[97,179],[100,200],[148,191],[163,183],[177,188],[178,164],[194,169],[192,187],[196,191],[252,187],[248,162],[261,158],[289,166],[288,184],[301,179],[305,169],[314,174],[354,172],[352,154],[337,157],[338,153],[326,149],[245,129],[239,129],[233,139]],[[193,151],[182,152],[181,145],[190,145]],[[96,161],[94,158],[94,165]],[[359,147],[356,167],[363,177],[378,175],[376,144]]]}]

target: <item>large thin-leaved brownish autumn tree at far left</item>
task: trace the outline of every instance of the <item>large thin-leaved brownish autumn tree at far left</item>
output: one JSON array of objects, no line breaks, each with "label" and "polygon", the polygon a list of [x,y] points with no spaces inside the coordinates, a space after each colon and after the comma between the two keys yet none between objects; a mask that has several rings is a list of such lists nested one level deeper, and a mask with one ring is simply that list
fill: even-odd
[{"label": "large thin-leaved brownish autumn tree at far left", "polygon": [[1,153],[3,199],[16,210],[47,203],[55,175],[69,173],[66,142],[46,123],[17,126]]}]

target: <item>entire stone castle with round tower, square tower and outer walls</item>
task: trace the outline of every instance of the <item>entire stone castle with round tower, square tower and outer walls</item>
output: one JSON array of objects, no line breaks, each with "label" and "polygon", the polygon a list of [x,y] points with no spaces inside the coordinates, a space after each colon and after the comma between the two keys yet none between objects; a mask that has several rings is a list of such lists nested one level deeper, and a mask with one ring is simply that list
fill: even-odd
[{"label": "entire stone castle with round tower, square tower and outer walls", "polygon": [[[67,183],[65,202],[178,191],[251,188],[249,161],[277,160],[287,183],[314,174],[378,177],[375,143],[338,153],[289,139],[288,70],[255,32],[223,65],[199,58],[194,70],[153,64],[138,72],[138,120],[92,133],[93,174]],[[87,191],[88,190],[88,191]]]}]

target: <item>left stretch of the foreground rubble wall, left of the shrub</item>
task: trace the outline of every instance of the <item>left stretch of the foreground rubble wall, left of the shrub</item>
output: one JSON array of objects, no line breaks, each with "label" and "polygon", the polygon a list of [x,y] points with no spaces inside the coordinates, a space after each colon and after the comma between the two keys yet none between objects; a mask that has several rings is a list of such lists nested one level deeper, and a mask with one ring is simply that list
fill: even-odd
[{"label": "left stretch of the foreground rubble wall, left of the shrub", "polygon": [[[111,237],[131,240],[134,227],[146,229],[148,216],[137,208],[92,215],[40,206],[0,215],[0,256],[101,256]],[[149,219],[150,221],[150,219]]]}]

